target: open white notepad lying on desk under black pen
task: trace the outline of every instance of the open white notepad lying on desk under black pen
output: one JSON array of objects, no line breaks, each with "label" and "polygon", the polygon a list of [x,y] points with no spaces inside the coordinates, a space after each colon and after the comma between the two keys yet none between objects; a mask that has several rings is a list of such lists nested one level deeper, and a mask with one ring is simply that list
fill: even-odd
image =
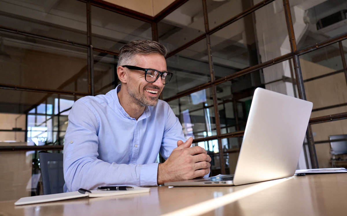
[{"label": "open white notepad lying on desk under black pen", "polygon": [[66,192],[60,194],[49,194],[49,195],[40,195],[40,196],[32,196],[32,197],[23,197],[15,202],[15,205],[26,205],[26,204],[34,204],[34,203],[46,203],[51,201],[65,200],[65,199],[74,199],[81,197],[106,197],[106,196],[117,196],[117,195],[125,195],[125,194],[138,194],[149,192],[150,188],[143,187],[134,187],[132,190],[91,190],[91,193],[86,192],[85,194],[81,194],[78,191]]}]

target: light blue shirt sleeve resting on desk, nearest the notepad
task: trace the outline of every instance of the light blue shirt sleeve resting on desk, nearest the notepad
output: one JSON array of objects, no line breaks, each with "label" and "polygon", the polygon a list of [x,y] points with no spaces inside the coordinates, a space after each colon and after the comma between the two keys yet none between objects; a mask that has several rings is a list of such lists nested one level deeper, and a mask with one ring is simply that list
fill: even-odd
[{"label": "light blue shirt sleeve resting on desk, nearest the notepad", "polygon": [[111,185],[157,185],[158,163],[108,163],[98,159],[99,120],[93,107],[76,101],[64,142],[64,179],[68,191]]}]

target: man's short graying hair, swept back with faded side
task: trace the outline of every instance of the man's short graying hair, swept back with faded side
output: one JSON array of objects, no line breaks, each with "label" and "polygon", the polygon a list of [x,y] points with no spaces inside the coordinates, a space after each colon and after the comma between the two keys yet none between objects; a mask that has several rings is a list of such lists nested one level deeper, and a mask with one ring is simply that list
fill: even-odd
[{"label": "man's short graying hair, swept back with faded side", "polygon": [[131,41],[119,50],[117,67],[136,64],[134,59],[136,54],[146,55],[151,53],[158,53],[166,57],[167,49],[162,44],[153,40]]}]

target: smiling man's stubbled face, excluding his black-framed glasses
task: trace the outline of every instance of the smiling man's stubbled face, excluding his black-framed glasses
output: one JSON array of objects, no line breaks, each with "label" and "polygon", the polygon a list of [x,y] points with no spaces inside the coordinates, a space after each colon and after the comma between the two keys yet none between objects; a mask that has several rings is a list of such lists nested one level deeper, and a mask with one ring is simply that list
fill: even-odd
[{"label": "smiling man's stubbled face, excluding his black-framed glasses", "polygon": [[[136,64],[133,66],[156,69],[161,72],[167,71],[164,56],[157,53],[138,54],[135,56],[135,62]],[[144,71],[129,70],[128,68],[126,70],[129,74],[127,82],[129,95],[140,106],[155,106],[164,88],[161,77],[159,76],[154,83],[149,83],[145,80]]]}]

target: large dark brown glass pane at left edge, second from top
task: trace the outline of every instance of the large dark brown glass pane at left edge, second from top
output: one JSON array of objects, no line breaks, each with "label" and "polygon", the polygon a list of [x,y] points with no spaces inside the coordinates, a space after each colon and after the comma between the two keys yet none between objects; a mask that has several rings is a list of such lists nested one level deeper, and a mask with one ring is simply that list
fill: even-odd
[{"label": "large dark brown glass pane at left edge, second from top", "polygon": [[87,49],[8,32],[0,44],[0,83],[88,92]]}]

